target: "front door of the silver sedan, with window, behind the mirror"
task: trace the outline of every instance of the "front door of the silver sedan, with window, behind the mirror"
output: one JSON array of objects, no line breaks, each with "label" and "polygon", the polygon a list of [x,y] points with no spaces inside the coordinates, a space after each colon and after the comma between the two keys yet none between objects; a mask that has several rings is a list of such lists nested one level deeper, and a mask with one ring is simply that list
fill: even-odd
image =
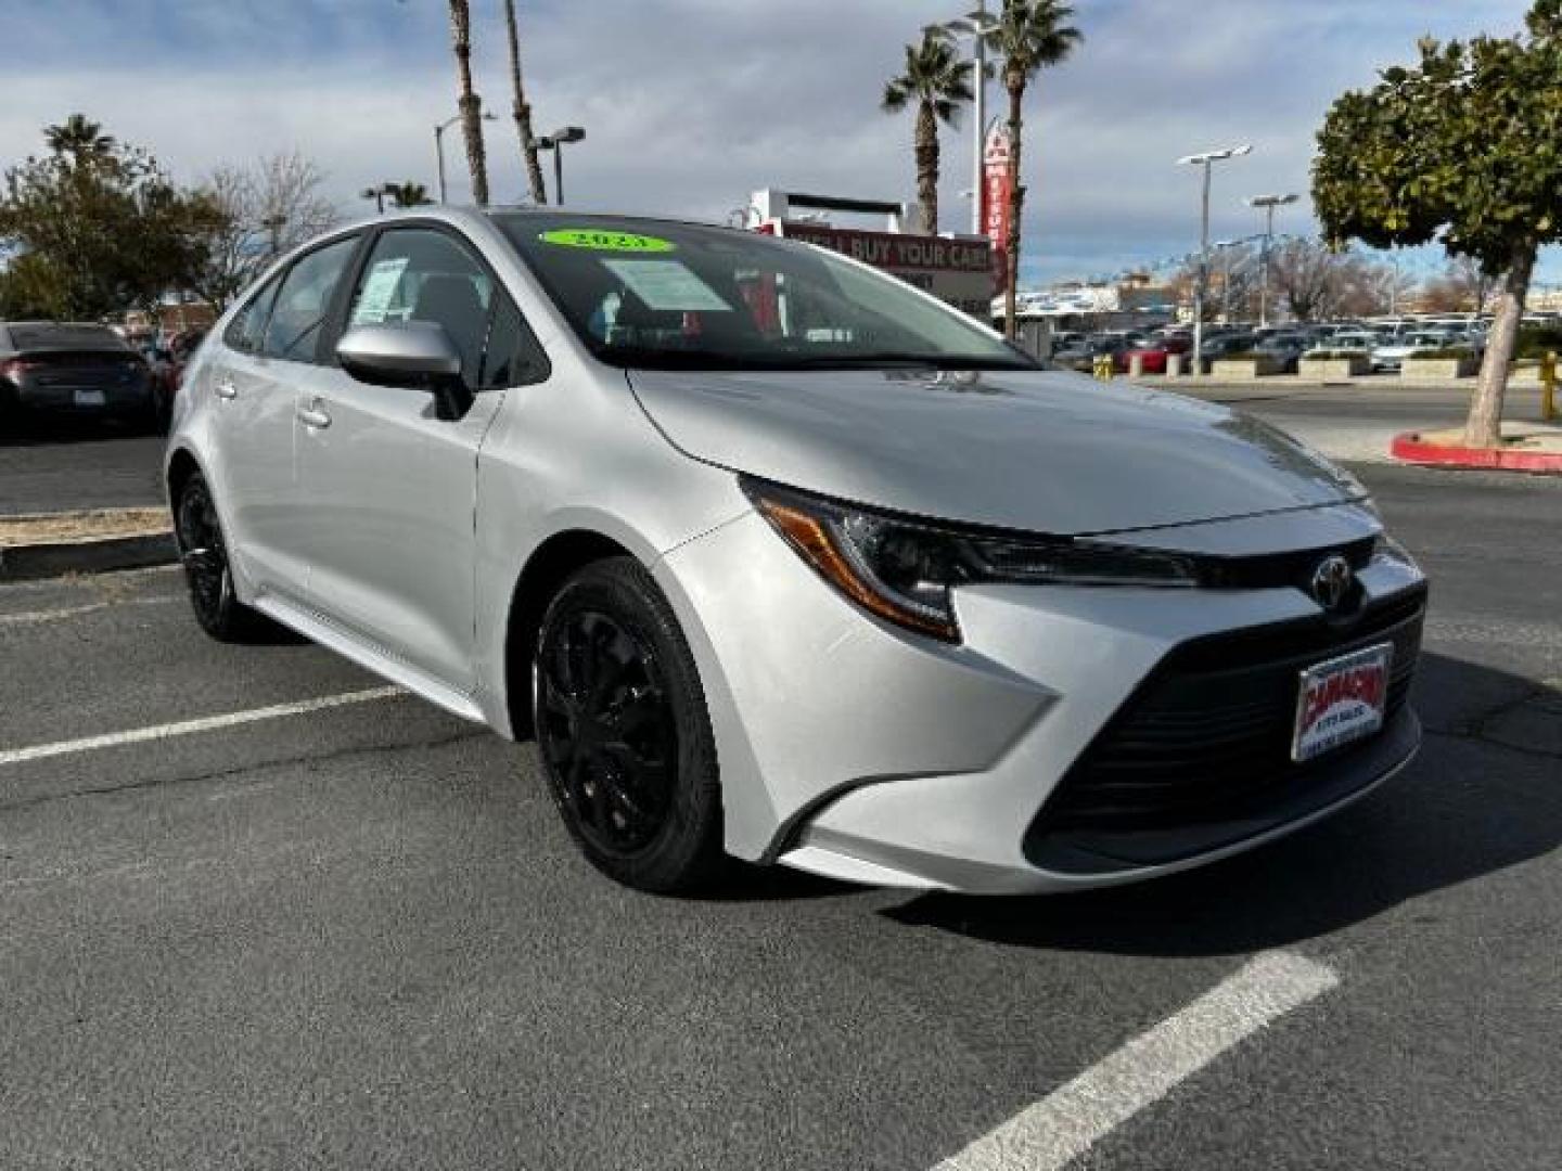
[{"label": "front door of the silver sedan, with window, behind the mirror", "polygon": [[334,364],[314,370],[298,436],[311,606],[470,695],[478,447],[506,387],[537,381],[545,361],[473,245],[439,225],[383,230],[344,315],[344,328],[439,323],[473,393],[459,418],[440,418],[428,392],[359,383]]}]

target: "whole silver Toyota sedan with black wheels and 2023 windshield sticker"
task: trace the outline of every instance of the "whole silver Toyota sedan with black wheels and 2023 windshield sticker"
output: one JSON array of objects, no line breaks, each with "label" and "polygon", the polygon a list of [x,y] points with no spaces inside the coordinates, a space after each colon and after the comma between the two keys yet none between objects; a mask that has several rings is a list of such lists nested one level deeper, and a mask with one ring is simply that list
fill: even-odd
[{"label": "whole silver Toyota sedan with black wheels and 2023 windshield sticker", "polygon": [[1257,845],[1420,742],[1426,582],[1231,411],[1047,370],[842,256],[417,211],[284,258],[191,367],[195,617],[536,737],[584,854],[1057,892]]}]

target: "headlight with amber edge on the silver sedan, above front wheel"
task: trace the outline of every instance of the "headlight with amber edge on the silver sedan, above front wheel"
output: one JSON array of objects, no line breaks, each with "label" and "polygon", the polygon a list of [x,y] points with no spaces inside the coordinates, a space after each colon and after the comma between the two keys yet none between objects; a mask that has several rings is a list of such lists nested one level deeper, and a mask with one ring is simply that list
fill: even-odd
[{"label": "headlight with amber edge on the silver sedan, above front wheel", "polygon": [[976,582],[1196,584],[1186,557],[1068,537],[947,528],[745,479],[761,515],[831,586],[897,626],[959,642],[950,592]]}]

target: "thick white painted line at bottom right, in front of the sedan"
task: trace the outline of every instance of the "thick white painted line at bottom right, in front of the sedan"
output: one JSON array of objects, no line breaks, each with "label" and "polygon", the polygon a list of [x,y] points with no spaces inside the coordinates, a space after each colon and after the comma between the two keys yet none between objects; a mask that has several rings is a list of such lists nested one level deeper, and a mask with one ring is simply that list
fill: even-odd
[{"label": "thick white painted line at bottom right, in front of the sedan", "polygon": [[1239,1041],[1339,984],[1270,951],[934,1171],[1057,1171]]}]

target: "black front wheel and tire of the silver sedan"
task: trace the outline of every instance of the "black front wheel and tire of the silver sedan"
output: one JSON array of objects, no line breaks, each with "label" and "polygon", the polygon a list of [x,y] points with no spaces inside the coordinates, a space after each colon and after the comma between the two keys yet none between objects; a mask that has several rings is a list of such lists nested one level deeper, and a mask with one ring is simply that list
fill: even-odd
[{"label": "black front wheel and tire of the silver sedan", "polygon": [[704,690],[639,562],[587,565],[555,596],[533,659],[533,721],[553,801],[594,867],[653,893],[715,874],[722,793]]}]

